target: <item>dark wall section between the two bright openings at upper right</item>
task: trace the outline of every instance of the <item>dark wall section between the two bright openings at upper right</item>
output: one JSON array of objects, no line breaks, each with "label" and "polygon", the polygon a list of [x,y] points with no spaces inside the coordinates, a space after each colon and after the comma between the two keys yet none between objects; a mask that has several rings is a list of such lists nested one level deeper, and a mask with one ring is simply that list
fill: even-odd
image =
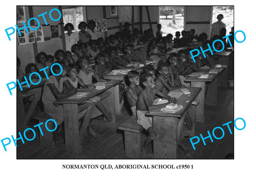
[{"label": "dark wall section between the two bright openings at upper right", "polygon": [[186,6],[184,12],[186,30],[195,29],[197,35],[205,32],[210,37],[212,6]]}]

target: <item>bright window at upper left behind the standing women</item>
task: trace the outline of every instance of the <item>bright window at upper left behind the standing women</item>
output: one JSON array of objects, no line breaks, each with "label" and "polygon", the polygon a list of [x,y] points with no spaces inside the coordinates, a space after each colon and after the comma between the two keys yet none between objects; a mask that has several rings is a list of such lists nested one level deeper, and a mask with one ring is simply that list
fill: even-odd
[{"label": "bright window at upper left behind the standing women", "polygon": [[67,23],[72,23],[74,25],[75,31],[79,31],[77,26],[79,22],[84,21],[83,7],[62,6],[62,14],[64,26]]}]

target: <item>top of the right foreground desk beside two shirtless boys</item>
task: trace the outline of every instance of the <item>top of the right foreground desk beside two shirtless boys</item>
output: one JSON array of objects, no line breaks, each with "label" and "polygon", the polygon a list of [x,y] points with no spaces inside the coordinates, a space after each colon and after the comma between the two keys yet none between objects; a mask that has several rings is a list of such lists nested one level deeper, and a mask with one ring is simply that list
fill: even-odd
[{"label": "top of the right foreground desk beside two shirtless boys", "polygon": [[[175,89],[172,92],[182,92],[182,88]],[[169,113],[161,111],[161,109],[151,110],[146,113],[147,116],[164,116],[164,117],[178,117],[181,118],[183,114],[187,111],[191,103],[195,100],[196,96],[201,92],[200,87],[187,87],[190,94],[182,94],[179,98],[176,104],[181,104],[183,106],[183,109],[179,110],[175,113]]]}]

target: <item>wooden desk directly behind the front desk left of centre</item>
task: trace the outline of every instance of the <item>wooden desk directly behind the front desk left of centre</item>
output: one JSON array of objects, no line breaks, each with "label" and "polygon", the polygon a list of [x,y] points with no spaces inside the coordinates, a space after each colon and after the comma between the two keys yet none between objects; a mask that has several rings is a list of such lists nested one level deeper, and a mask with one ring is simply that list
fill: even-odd
[{"label": "wooden desk directly behind the front desk left of centre", "polygon": [[[135,68],[133,70],[140,70],[142,69],[143,67],[138,67],[138,68]],[[127,69],[129,69],[129,67],[127,67]],[[122,83],[124,83],[125,87],[127,87],[127,84],[126,84],[126,78],[127,74],[122,74],[122,73],[118,73],[117,75],[105,75],[103,76],[103,79],[106,79],[106,80],[119,80],[119,81],[122,81]],[[124,104],[124,96],[122,98],[122,101],[120,101],[120,98],[119,98],[119,85],[116,85],[114,87],[114,94],[115,94],[115,111],[116,111],[116,114],[121,114],[121,110],[122,110],[122,107],[123,107],[123,104]]]}]

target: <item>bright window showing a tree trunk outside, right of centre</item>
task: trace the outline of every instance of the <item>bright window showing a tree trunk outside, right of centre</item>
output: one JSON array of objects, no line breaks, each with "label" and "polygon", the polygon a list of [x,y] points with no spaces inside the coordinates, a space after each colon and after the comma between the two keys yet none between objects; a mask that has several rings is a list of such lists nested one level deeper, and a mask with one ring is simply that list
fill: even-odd
[{"label": "bright window showing a tree trunk outside, right of centre", "polygon": [[162,24],[163,36],[184,29],[184,7],[183,6],[159,6],[159,23]]}]

